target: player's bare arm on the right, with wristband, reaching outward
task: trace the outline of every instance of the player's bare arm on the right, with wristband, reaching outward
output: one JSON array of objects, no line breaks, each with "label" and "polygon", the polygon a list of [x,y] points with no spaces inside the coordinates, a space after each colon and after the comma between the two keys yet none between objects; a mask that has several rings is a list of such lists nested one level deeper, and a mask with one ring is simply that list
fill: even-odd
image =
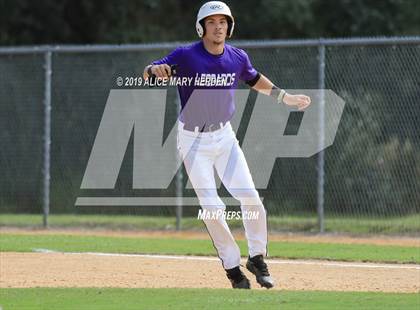
[{"label": "player's bare arm on the right, with wristband, reaching outward", "polygon": [[304,110],[311,104],[311,98],[306,95],[292,95],[285,90],[278,88],[267,77],[258,73],[253,83],[248,83],[252,89],[274,97],[277,102],[284,103],[289,106],[296,106],[298,110]]}]

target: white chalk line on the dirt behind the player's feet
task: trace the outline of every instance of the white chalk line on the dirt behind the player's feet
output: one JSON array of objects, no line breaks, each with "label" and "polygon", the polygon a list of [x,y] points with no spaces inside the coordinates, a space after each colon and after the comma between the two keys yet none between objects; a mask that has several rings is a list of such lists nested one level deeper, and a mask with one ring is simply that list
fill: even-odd
[{"label": "white chalk line on the dirt behind the player's feet", "polygon": [[[159,255],[159,254],[120,254],[120,253],[100,253],[100,252],[60,252],[49,249],[33,249],[37,253],[60,253],[70,255],[94,255],[94,256],[113,256],[113,257],[139,257],[156,259],[175,259],[175,260],[196,260],[196,261],[220,261],[217,257],[193,256],[193,255]],[[382,268],[382,269],[415,269],[420,270],[420,265],[398,265],[398,264],[374,264],[374,263],[349,263],[349,262],[328,262],[328,261],[302,261],[302,260],[282,260],[265,259],[269,264],[283,265],[316,265],[326,267],[344,267],[344,268]]]}]

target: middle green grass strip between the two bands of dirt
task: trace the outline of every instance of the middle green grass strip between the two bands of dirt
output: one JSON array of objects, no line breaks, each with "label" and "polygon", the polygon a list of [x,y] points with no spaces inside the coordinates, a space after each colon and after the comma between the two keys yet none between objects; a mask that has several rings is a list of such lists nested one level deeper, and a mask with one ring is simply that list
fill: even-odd
[{"label": "middle green grass strip between the two bands of dirt", "polygon": [[[247,256],[244,240],[238,241]],[[31,252],[49,249],[62,252],[148,253],[215,255],[208,240],[176,238],[124,238],[78,235],[0,234],[0,251]],[[366,244],[269,242],[270,257],[288,259],[329,259],[390,263],[420,263],[420,247]]]}]

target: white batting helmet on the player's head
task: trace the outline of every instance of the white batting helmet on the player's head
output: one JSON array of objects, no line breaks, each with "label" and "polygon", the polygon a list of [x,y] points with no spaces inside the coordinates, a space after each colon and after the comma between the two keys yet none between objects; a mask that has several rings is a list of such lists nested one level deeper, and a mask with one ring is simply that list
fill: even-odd
[{"label": "white batting helmet on the player's head", "polygon": [[233,33],[233,28],[235,26],[235,20],[233,19],[232,13],[230,12],[229,7],[226,3],[222,1],[209,1],[204,3],[197,14],[197,21],[195,23],[195,28],[197,29],[198,36],[202,38],[205,34],[204,28],[204,19],[211,15],[222,14],[227,17],[228,20],[228,30],[227,36],[230,38]]}]

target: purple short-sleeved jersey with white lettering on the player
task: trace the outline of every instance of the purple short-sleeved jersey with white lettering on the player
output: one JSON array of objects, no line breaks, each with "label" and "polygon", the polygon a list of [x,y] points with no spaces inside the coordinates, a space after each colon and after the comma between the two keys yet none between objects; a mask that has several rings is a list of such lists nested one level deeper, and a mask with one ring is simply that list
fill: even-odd
[{"label": "purple short-sleeved jersey with white lettering on the player", "polygon": [[[242,49],[225,44],[221,55],[213,55],[202,41],[178,47],[152,64],[178,65],[176,78],[184,82],[178,84],[180,120],[194,126],[229,121],[235,112],[238,80],[247,82],[258,74]],[[204,91],[191,96],[194,90]]]}]

